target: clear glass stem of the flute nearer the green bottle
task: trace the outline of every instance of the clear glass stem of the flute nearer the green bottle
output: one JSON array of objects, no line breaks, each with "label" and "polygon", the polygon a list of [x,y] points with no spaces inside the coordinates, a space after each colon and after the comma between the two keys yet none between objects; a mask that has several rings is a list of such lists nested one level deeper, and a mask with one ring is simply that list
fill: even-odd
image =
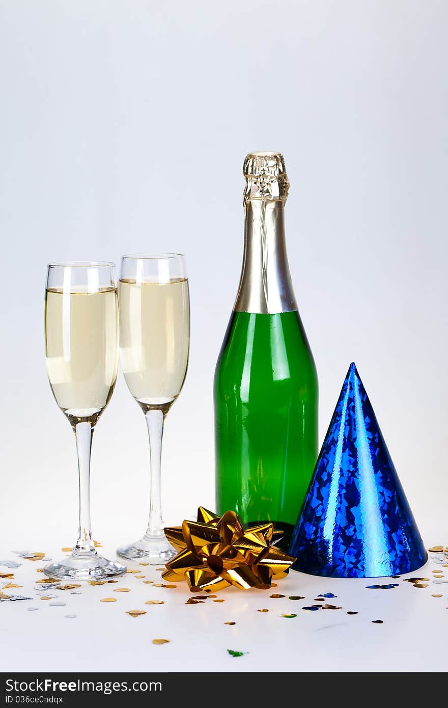
[{"label": "clear glass stem of the flute nearer the green bottle", "polygon": [[151,541],[164,536],[164,523],[161,508],[160,464],[162,454],[162,435],[165,413],[160,409],[151,409],[145,413],[149,435],[151,455],[151,492],[149,497],[149,521],[144,539]]}]

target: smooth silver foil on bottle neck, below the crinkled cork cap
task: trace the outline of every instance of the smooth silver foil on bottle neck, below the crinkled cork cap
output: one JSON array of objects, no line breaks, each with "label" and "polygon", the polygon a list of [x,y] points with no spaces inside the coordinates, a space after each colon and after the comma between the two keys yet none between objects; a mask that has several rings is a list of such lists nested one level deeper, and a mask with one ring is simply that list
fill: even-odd
[{"label": "smooth silver foil on bottle neck, below the crinkled cork cap", "polygon": [[285,244],[283,200],[246,201],[243,269],[234,312],[297,310]]}]

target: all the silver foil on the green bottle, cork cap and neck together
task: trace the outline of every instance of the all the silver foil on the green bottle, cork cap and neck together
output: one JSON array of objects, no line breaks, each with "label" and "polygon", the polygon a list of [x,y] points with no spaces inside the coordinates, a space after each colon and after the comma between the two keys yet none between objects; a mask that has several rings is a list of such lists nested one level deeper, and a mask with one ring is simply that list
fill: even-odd
[{"label": "all the silver foil on the green bottle, cork cap and neck together", "polygon": [[285,243],[284,206],[289,189],[278,152],[253,152],[243,165],[246,229],[235,312],[277,314],[297,310]]}]

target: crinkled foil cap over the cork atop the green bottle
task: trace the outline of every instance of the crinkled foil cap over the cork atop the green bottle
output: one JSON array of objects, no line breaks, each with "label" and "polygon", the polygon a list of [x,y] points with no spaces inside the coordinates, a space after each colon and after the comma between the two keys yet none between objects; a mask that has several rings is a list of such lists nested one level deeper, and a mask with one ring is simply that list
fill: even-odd
[{"label": "crinkled foil cap over the cork atop the green bottle", "polygon": [[280,152],[250,152],[243,164],[246,188],[243,199],[281,199],[286,201],[289,181],[285,159]]}]

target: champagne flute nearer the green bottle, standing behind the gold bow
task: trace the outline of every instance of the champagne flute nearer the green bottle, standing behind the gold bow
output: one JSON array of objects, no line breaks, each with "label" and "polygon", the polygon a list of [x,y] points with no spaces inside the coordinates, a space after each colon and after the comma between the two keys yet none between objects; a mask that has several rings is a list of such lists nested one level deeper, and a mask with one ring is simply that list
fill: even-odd
[{"label": "champagne flute nearer the green bottle, standing behind the gold bow", "polygon": [[166,562],[175,551],[161,516],[161,444],[166,413],[180,394],[190,347],[185,258],[178,253],[123,256],[120,360],[127,387],[144,412],[151,457],[149,522],[142,539],[117,549],[127,559]]}]

